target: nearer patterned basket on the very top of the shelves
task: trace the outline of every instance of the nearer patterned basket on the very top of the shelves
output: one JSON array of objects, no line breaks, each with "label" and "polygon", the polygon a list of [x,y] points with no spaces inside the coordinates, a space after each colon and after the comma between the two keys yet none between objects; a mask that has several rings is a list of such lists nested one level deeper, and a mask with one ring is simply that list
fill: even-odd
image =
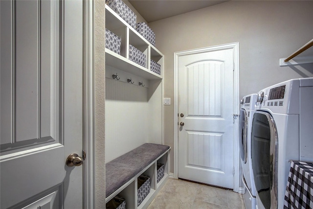
[{"label": "nearer patterned basket on the very top of the shelves", "polygon": [[106,0],[106,4],[112,8],[126,23],[136,28],[137,16],[122,0]]}]

